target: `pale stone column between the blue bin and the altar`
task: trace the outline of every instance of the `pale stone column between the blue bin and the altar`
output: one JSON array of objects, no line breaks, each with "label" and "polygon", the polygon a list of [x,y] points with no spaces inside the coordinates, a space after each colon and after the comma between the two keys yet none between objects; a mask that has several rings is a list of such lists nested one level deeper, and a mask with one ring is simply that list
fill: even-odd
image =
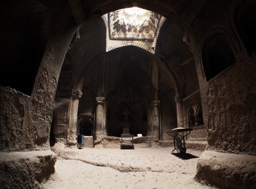
[{"label": "pale stone column between the blue bin and the altar", "polygon": [[95,143],[100,142],[104,134],[104,97],[96,97],[96,113],[95,113]]}]

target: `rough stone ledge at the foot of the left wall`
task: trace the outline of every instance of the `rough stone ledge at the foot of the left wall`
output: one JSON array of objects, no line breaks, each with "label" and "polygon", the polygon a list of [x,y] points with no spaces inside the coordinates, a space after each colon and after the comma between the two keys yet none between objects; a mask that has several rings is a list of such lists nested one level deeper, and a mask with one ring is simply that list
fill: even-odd
[{"label": "rough stone ledge at the foot of the left wall", "polygon": [[56,155],[52,151],[0,153],[1,188],[40,188],[54,173]]}]

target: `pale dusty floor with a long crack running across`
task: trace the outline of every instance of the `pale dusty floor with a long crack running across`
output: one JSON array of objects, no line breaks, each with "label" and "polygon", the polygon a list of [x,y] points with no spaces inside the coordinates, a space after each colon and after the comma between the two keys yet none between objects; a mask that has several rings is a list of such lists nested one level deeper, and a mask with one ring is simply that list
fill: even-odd
[{"label": "pale dusty floor with a long crack running across", "polygon": [[171,147],[79,150],[59,146],[55,151],[56,172],[44,188],[211,188],[193,179],[200,151],[188,149],[188,160],[172,155]]}]

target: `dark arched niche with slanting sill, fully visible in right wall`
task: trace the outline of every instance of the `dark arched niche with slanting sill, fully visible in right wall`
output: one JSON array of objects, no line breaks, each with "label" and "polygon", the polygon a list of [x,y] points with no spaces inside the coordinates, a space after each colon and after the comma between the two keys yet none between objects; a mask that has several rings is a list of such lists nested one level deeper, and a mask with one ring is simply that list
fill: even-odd
[{"label": "dark arched niche with slanting sill, fully visible in right wall", "polygon": [[224,33],[212,33],[205,40],[202,50],[202,63],[205,77],[212,79],[236,62],[231,43]]}]

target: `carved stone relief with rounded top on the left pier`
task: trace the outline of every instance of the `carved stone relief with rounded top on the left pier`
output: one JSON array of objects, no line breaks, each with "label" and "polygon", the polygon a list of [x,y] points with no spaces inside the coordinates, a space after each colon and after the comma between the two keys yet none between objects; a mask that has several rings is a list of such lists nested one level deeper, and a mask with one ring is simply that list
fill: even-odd
[{"label": "carved stone relief with rounded top on the left pier", "polygon": [[35,112],[31,112],[33,120],[51,122],[54,96],[56,92],[56,78],[49,77],[45,68],[38,72],[33,92]]}]

